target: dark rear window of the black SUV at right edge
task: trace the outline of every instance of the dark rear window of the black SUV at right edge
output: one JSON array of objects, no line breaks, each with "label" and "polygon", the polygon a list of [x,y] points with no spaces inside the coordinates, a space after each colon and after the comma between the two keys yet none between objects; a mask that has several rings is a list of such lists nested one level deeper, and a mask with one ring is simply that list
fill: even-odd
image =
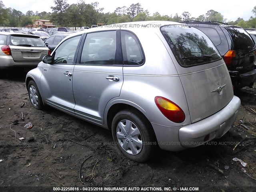
[{"label": "dark rear window of the black SUV at right edge", "polygon": [[241,28],[226,28],[232,38],[233,50],[248,50],[254,48],[254,42],[250,35]]}]

